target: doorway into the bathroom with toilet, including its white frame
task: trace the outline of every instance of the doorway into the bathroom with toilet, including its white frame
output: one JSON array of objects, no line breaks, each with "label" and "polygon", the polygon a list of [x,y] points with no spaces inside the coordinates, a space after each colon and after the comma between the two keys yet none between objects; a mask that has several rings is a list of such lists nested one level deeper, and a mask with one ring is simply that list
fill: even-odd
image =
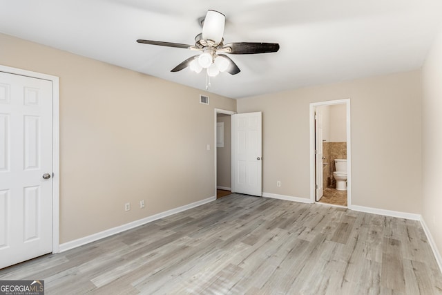
[{"label": "doorway into the bathroom with toilet, including its white frame", "polygon": [[312,202],[352,203],[350,138],[350,99],[310,104]]}]

